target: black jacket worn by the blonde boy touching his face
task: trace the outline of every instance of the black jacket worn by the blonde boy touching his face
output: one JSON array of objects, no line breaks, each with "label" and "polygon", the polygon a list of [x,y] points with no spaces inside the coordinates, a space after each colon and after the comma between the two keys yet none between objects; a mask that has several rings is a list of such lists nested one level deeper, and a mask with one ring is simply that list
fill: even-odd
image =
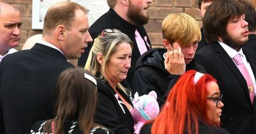
[{"label": "black jacket worn by the blonde boy touching his face", "polygon": [[[179,75],[171,75],[165,70],[163,57],[165,52],[166,48],[154,48],[145,52],[136,63],[132,85],[140,96],[148,94],[150,91],[156,91],[160,107],[179,78]],[[195,60],[186,65],[186,71],[188,70],[206,72],[200,64],[195,63]]]}]

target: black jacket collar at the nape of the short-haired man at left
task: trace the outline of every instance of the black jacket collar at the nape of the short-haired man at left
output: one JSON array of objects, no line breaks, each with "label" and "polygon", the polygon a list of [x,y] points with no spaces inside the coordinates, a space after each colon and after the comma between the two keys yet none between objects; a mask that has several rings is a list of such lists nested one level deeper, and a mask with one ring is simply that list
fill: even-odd
[{"label": "black jacket collar at the nape of the short-haired man at left", "polygon": [[54,48],[48,47],[46,45],[36,43],[34,47],[31,48],[32,50],[43,52],[47,55],[54,56],[54,57],[60,57],[61,59],[67,61],[66,57],[63,56],[63,54]]}]

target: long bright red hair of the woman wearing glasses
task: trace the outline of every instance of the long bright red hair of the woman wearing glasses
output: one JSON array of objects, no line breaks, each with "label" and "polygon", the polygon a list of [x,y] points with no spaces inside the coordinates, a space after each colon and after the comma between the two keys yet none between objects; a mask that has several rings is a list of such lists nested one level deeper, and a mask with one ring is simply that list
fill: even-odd
[{"label": "long bright red hair of the woman wearing glasses", "polygon": [[194,84],[195,70],[186,71],[173,86],[164,107],[152,125],[152,134],[198,134],[199,122],[212,126],[207,117],[205,84],[216,79],[204,74]]}]

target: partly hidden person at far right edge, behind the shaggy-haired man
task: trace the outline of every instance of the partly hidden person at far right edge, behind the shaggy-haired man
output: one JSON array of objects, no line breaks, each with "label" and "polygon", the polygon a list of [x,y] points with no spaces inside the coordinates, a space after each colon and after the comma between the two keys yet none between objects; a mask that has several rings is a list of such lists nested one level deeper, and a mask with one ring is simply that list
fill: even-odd
[{"label": "partly hidden person at far right edge, behind the shaggy-haired man", "polygon": [[256,10],[250,1],[239,0],[239,3],[245,6],[245,20],[248,22],[249,36],[244,47],[247,47],[256,53]]}]

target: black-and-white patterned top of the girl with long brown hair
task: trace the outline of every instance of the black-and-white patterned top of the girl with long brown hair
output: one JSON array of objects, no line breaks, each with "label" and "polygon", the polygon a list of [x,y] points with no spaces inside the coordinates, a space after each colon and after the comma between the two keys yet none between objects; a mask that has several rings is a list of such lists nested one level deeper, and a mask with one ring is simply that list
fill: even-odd
[{"label": "black-and-white patterned top of the girl with long brown hair", "polygon": [[[44,133],[44,124],[45,121],[37,121],[31,128],[30,134],[36,133]],[[77,121],[67,121],[65,124],[65,132],[67,134],[84,134],[83,131],[80,130]],[[106,128],[102,127],[93,127],[90,131],[90,134],[114,134],[113,132],[107,130]]]}]

